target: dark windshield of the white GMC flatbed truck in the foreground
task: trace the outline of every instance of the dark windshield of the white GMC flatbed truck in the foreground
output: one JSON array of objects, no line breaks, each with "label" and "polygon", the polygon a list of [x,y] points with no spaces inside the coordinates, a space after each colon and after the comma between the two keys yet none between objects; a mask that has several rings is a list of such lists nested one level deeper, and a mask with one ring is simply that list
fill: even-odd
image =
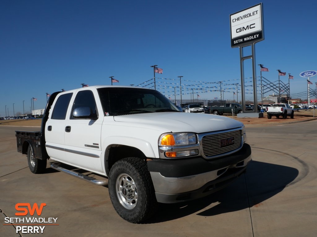
[{"label": "dark windshield of the white GMC flatbed truck in the foreground", "polygon": [[180,112],[164,95],[143,88],[99,88],[105,116],[131,113]]}]

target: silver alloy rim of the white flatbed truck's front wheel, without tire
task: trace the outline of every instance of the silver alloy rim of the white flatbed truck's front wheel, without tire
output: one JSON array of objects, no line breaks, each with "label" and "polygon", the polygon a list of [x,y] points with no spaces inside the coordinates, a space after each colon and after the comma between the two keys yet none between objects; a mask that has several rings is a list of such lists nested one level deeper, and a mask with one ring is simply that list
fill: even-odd
[{"label": "silver alloy rim of the white flatbed truck's front wheel, without tire", "polygon": [[119,202],[126,209],[133,209],[138,202],[138,190],[133,179],[126,173],[120,174],[116,181]]}]

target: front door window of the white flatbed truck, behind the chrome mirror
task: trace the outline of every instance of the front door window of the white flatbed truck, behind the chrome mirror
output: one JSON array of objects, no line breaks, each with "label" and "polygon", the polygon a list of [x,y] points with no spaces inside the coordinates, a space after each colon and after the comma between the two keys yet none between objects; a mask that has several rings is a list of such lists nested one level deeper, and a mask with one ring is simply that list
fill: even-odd
[{"label": "front door window of the white flatbed truck, behind the chrome mirror", "polygon": [[75,119],[73,111],[79,107],[89,107],[91,114],[98,114],[95,97],[91,90],[83,90],[77,93],[70,119]]}]

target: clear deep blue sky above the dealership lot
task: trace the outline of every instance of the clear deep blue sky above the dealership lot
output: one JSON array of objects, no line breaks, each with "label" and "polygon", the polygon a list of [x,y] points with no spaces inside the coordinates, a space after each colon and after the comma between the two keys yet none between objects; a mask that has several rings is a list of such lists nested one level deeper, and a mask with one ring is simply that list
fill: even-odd
[{"label": "clear deep blue sky above the dealership lot", "polygon": [[[177,76],[184,76],[185,84],[240,82],[239,49],[230,46],[229,16],[258,3],[2,0],[0,116],[6,105],[12,116],[13,103],[15,112],[23,112],[23,100],[29,111],[32,97],[37,98],[35,109],[44,108],[46,93],[81,83],[111,85],[109,76],[119,80],[114,85],[138,85],[153,77],[154,64],[163,69],[157,77],[175,84]],[[299,74],[317,70],[317,3],[262,3],[265,40],[256,44],[256,64],[269,69],[262,75],[271,82],[278,80],[277,69],[291,73],[291,94],[307,91]],[[260,76],[258,67],[256,73]],[[315,88],[317,76],[310,79]],[[281,80],[288,83],[287,76]],[[200,99],[214,97],[220,93],[200,94]],[[232,99],[232,94],[224,98]]]}]

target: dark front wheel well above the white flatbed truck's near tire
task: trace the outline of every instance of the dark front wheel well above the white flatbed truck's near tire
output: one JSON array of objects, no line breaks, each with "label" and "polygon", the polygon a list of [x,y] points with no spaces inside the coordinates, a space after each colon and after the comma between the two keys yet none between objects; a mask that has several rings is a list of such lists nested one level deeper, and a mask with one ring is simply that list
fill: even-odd
[{"label": "dark front wheel well above the white flatbed truck's near tire", "polygon": [[108,174],[113,164],[121,159],[127,157],[138,157],[142,160],[146,159],[146,156],[142,151],[135,147],[124,145],[112,145],[107,149],[105,157],[106,173]]}]

